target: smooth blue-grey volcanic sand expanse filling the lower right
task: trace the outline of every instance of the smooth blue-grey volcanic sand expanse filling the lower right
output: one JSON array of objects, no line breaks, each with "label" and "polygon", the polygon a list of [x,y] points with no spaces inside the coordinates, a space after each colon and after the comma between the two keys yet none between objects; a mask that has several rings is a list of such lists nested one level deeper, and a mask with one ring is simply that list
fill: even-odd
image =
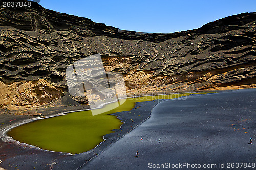
[{"label": "smooth blue-grey volcanic sand expanse filling the lower right", "polygon": [[256,89],[245,89],[160,102],[146,122],[81,169],[147,169],[150,162],[217,164],[216,169],[225,163],[228,169],[228,162],[255,163],[256,141],[248,144],[256,139],[255,99]]}]

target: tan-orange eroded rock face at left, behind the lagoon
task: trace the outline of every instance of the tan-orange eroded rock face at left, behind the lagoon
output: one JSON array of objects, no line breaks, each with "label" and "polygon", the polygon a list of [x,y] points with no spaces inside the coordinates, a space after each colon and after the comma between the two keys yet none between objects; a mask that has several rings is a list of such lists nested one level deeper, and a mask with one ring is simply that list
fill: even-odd
[{"label": "tan-orange eroded rock face at left, behind the lagoon", "polygon": [[63,96],[60,88],[44,79],[8,84],[0,81],[0,89],[0,107],[9,110],[39,106]]}]

